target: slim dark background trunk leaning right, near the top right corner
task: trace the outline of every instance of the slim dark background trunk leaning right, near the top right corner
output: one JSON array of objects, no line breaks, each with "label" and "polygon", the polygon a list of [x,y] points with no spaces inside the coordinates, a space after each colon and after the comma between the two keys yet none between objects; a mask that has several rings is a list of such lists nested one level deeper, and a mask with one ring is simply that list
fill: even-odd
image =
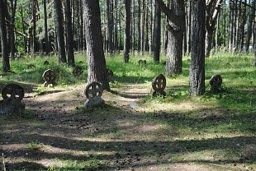
[{"label": "slim dark background trunk leaning right, near the top right corner", "polygon": [[254,18],[255,18],[255,0],[251,3],[251,10],[250,10],[250,14],[249,14],[246,45],[245,45],[246,53],[249,53],[249,42],[252,37]]}]

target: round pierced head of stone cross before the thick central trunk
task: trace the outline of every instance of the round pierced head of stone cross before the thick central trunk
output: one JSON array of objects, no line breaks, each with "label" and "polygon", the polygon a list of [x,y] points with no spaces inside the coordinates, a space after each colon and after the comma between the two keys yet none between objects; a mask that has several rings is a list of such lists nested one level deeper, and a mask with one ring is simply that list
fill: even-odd
[{"label": "round pierced head of stone cross before the thick central trunk", "polygon": [[103,93],[102,85],[95,81],[89,83],[84,90],[84,95],[88,99],[92,99],[95,97],[101,97],[102,93]]}]

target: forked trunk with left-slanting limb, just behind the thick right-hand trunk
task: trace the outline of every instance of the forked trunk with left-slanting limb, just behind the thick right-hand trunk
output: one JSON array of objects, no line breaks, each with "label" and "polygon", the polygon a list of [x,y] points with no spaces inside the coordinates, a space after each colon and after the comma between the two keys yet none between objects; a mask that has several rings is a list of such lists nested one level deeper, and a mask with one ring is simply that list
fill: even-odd
[{"label": "forked trunk with left-slanting limb, just behind the thick right-hand trunk", "polygon": [[165,73],[167,75],[181,74],[183,66],[183,34],[185,31],[185,7],[183,0],[171,3],[171,9],[164,5],[162,0],[157,0],[162,12],[169,19],[168,25],[168,53]]}]

